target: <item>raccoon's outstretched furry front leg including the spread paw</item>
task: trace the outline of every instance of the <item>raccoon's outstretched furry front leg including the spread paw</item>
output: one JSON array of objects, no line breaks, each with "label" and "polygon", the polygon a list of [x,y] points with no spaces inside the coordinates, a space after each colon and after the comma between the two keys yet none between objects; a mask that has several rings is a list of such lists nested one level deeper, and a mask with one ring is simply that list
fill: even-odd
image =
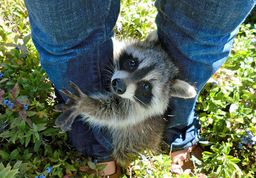
[{"label": "raccoon's outstretched furry front leg including the spread paw", "polygon": [[86,121],[91,125],[98,126],[108,126],[109,123],[112,123],[113,118],[121,118],[119,117],[120,109],[116,112],[116,109],[121,106],[116,106],[112,95],[98,93],[94,96],[88,96],[72,82],[70,82],[70,87],[74,93],[66,89],[60,90],[68,97],[68,100],[65,104],[55,107],[56,111],[63,112],[55,121],[56,127],[61,127],[62,132],[66,132],[71,127],[75,117],[79,114],[89,117]]}]

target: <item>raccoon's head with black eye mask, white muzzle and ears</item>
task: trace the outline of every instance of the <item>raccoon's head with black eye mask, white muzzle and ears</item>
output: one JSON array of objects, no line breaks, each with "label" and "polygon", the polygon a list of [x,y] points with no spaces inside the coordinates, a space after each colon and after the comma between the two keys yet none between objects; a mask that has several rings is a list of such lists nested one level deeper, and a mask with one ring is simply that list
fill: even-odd
[{"label": "raccoon's head with black eye mask, white muzzle and ears", "polygon": [[155,40],[128,42],[114,65],[113,92],[142,106],[166,105],[171,96],[191,98],[196,94],[187,82],[177,79],[177,67]]}]

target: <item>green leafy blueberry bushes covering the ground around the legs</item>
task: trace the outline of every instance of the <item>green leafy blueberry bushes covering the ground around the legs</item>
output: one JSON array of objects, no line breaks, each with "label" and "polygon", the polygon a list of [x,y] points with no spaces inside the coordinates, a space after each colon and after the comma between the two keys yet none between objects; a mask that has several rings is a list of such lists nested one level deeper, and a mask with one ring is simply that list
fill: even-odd
[{"label": "green leafy blueberry bushes covering the ground around the legs", "polygon": [[[83,158],[67,134],[53,128],[59,115],[53,112],[54,88],[39,64],[23,1],[0,4],[0,178],[96,178],[104,166]],[[155,16],[153,2],[123,0],[116,35],[143,39],[156,28]],[[134,160],[123,178],[256,176],[255,21],[250,16],[240,27],[226,63],[198,97],[201,144],[207,150],[203,162],[192,158],[198,169],[175,175],[166,151],[157,156],[145,151],[129,155]]]}]

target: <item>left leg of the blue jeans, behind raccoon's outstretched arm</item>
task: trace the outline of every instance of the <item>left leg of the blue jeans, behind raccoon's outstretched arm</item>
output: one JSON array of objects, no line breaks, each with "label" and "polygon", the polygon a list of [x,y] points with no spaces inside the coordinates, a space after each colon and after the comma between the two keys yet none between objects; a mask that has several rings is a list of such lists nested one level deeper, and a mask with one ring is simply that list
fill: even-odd
[{"label": "left leg of the blue jeans, behind raccoon's outstretched arm", "polygon": [[[72,81],[87,94],[104,92],[120,0],[25,0],[25,5],[41,65],[57,90],[71,90]],[[69,137],[84,156],[105,160],[113,149],[105,130],[81,121],[73,123]]]}]

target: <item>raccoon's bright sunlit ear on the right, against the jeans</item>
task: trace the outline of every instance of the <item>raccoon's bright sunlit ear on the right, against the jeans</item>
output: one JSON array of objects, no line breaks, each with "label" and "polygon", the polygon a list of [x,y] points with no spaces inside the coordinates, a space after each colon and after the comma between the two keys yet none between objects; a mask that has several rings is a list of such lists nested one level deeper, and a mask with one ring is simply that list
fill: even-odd
[{"label": "raccoon's bright sunlit ear on the right, against the jeans", "polygon": [[183,80],[176,79],[171,86],[171,96],[179,98],[194,98],[195,88]]}]

